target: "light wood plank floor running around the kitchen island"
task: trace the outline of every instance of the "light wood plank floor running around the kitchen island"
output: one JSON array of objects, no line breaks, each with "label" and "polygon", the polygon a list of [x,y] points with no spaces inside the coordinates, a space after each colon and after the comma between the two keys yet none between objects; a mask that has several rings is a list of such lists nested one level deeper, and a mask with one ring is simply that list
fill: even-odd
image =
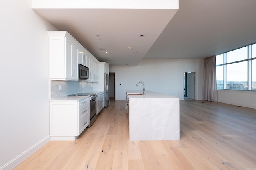
[{"label": "light wood plank floor running around the kitchen island", "polygon": [[129,141],[125,101],[110,101],[76,141],[50,141],[15,170],[256,170],[256,109],[180,101],[180,141]]}]

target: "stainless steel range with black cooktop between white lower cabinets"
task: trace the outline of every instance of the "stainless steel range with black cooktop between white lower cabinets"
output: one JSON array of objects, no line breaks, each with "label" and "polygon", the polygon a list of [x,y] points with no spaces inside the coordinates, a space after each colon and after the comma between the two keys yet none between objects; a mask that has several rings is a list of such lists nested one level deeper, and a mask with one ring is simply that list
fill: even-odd
[{"label": "stainless steel range with black cooktop between white lower cabinets", "polygon": [[89,112],[89,117],[90,117],[90,122],[89,122],[89,125],[88,127],[91,127],[92,123],[94,123],[94,121],[96,121],[96,118],[97,118],[97,105],[96,105],[96,97],[97,97],[97,94],[96,93],[76,93],[76,94],[71,94],[71,95],[68,95],[68,96],[88,96],[89,97],[89,100],[90,100],[90,112]]}]

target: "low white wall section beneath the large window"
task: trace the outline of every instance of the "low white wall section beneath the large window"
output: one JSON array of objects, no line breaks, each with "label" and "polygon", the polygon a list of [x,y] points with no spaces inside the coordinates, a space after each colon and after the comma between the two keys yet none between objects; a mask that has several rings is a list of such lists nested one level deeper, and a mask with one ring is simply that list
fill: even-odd
[{"label": "low white wall section beneath the large window", "polygon": [[256,92],[218,90],[218,102],[256,109]]}]

